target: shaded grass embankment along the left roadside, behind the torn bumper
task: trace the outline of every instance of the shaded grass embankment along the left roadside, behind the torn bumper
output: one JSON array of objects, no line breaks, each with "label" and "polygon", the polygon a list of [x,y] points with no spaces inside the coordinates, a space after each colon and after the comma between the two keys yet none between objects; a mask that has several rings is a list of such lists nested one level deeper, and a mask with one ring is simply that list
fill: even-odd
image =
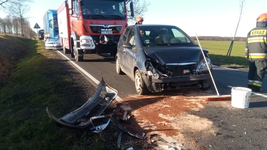
[{"label": "shaded grass embankment along the left roadside, behind the torn bumper", "polygon": [[[0,42],[1,56],[10,52],[1,63],[11,60],[1,72],[15,68],[0,87],[0,149],[115,149],[115,132],[94,134],[57,128],[51,122],[47,106],[55,116],[63,116],[85,101],[78,101],[79,91],[71,96],[73,81],[60,71],[63,66],[45,57],[49,50],[43,42],[9,35],[0,35]],[[23,58],[10,59],[14,54]]]}]

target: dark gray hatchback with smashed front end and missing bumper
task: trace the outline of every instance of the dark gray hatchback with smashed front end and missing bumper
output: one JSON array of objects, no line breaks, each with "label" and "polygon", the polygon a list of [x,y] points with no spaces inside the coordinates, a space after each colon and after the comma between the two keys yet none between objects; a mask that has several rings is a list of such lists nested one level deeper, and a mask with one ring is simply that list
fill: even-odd
[{"label": "dark gray hatchback with smashed front end and missing bumper", "polygon": [[212,63],[203,49],[180,28],[171,25],[133,25],[123,31],[116,55],[117,74],[128,75],[139,95],[147,91],[212,86]]}]

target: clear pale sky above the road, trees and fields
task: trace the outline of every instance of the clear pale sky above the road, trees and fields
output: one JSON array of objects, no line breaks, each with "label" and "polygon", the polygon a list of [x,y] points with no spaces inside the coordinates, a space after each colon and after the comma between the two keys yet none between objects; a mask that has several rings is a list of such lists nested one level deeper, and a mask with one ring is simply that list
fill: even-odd
[{"label": "clear pale sky above the road, trees and fields", "polygon": [[[240,0],[146,0],[151,3],[142,16],[143,24],[170,24],[184,30],[189,36],[233,36],[237,27]],[[38,23],[43,28],[47,9],[57,9],[63,0],[34,0],[30,3],[31,26]],[[246,37],[256,27],[256,18],[267,13],[266,0],[245,0],[242,18],[236,36]],[[0,17],[6,16],[0,10]],[[138,17],[138,16],[136,16]],[[35,31],[36,29],[34,29]]]}]

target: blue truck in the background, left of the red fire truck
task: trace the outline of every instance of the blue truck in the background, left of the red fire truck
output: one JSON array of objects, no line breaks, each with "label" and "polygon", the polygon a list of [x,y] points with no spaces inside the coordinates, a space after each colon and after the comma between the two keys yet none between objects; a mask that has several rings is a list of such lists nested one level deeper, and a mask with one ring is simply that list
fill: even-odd
[{"label": "blue truck in the background, left of the red fire truck", "polygon": [[59,34],[58,31],[58,20],[57,20],[57,10],[47,10],[44,13],[44,41],[48,39],[53,39]]}]

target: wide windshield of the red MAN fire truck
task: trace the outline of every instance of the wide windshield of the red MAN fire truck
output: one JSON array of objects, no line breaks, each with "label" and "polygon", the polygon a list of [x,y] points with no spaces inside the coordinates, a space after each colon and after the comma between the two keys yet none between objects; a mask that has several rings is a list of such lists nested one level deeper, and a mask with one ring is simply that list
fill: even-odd
[{"label": "wide windshield of the red MAN fire truck", "polygon": [[81,3],[82,16],[85,19],[125,20],[124,0],[84,0]]}]

